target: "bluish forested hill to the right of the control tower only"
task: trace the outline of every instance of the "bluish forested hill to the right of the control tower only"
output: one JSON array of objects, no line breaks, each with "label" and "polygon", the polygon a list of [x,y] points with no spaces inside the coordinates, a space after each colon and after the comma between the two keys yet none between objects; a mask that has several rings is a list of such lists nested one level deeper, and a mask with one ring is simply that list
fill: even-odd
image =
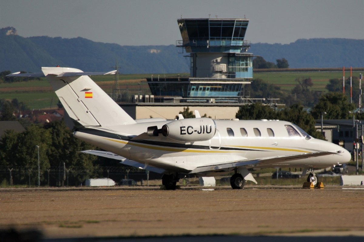
[{"label": "bluish forested hill to the right of the control tower only", "polygon": [[299,39],[290,44],[252,44],[249,52],[275,63],[288,60],[290,68],[364,66],[364,40]]}]

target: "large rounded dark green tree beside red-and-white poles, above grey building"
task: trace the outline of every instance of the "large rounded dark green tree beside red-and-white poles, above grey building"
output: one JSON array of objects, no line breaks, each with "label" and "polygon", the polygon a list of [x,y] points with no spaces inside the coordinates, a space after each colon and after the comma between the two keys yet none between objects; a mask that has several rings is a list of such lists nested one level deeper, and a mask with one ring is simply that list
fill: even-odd
[{"label": "large rounded dark green tree beside red-and-white poles, above grey building", "polygon": [[350,119],[355,108],[343,93],[330,92],[322,95],[313,107],[311,114],[315,119],[321,118],[321,113],[326,112],[326,119]]}]

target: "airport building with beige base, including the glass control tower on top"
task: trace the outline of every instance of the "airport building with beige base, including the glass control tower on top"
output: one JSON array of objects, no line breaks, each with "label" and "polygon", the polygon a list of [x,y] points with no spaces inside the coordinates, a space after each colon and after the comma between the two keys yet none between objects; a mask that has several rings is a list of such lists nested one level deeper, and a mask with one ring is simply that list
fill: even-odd
[{"label": "airport building with beige base, including the glass control tower on top", "polygon": [[132,117],[174,119],[189,106],[202,115],[231,119],[241,105],[272,102],[244,97],[244,85],[253,79],[253,54],[245,40],[249,19],[178,19],[177,23],[182,40],[176,46],[188,54],[190,77],[146,78],[153,98],[136,95],[133,104],[122,105]]}]

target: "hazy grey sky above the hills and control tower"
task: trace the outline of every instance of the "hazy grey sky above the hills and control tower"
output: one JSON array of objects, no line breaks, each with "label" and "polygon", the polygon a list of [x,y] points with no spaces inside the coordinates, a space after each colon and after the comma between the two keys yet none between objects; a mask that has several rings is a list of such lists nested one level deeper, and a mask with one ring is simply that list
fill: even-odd
[{"label": "hazy grey sky above the hills and control tower", "polygon": [[175,45],[177,19],[248,18],[245,39],[364,39],[364,0],[0,0],[0,28],[23,37]]}]

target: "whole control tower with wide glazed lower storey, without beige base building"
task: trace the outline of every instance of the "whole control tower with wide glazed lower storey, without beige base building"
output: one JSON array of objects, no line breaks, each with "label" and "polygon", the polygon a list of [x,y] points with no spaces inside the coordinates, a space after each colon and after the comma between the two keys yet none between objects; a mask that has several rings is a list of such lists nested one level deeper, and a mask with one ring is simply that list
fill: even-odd
[{"label": "whole control tower with wide glazed lower storey, without beige base building", "polygon": [[253,78],[253,54],[247,53],[250,42],[244,40],[249,19],[177,22],[182,36],[177,47],[189,53],[190,77],[147,78],[152,94],[179,96],[181,102],[200,102],[203,98],[208,102],[239,100],[243,84],[250,84]]}]

